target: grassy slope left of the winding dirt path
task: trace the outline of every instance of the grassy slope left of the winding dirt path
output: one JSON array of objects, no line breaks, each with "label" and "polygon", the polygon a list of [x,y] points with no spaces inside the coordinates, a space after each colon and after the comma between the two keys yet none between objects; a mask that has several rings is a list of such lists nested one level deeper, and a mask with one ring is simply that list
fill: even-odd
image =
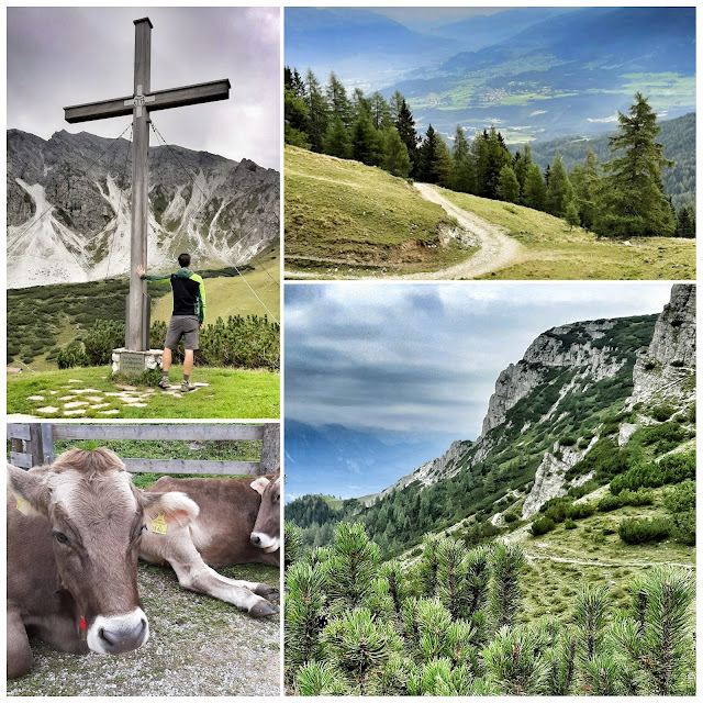
[{"label": "grassy slope left of the winding dirt path", "polygon": [[[286,146],[287,270],[324,274],[346,264],[423,271],[462,260],[467,249],[437,247],[449,226],[439,205],[424,200],[401,178],[358,161]],[[331,264],[315,265],[315,258]],[[376,270],[378,272],[378,270]]]}]

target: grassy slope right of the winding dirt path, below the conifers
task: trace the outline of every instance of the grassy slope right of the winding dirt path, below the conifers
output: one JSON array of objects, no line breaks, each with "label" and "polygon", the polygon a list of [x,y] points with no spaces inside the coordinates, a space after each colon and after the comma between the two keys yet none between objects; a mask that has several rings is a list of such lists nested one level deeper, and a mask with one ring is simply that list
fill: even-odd
[{"label": "grassy slope right of the winding dirt path, below the conifers", "polygon": [[634,239],[632,246],[596,239],[545,212],[443,190],[453,203],[501,225],[526,247],[527,260],[484,278],[501,279],[669,279],[695,278],[695,241]]}]

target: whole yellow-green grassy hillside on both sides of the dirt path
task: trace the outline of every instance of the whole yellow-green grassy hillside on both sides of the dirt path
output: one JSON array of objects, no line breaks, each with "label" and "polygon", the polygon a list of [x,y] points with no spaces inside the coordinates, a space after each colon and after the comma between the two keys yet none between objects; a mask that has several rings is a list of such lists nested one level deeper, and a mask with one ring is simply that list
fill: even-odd
[{"label": "whole yellow-green grassy hillside on both sides of the dirt path", "polygon": [[[563,220],[529,208],[445,189],[437,192],[522,245],[512,265],[483,278],[695,277],[694,241],[598,239],[591,232],[569,228]],[[380,278],[421,271],[427,272],[426,278],[438,277],[436,271],[470,260],[477,253],[456,239],[442,244],[439,233],[451,226],[451,220],[403,179],[358,161],[286,147],[288,278]]]}]

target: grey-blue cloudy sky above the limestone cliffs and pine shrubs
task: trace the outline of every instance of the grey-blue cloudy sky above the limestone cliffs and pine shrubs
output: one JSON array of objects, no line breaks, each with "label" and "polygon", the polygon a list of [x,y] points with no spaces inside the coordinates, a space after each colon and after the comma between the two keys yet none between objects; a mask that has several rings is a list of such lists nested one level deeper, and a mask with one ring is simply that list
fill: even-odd
[{"label": "grey-blue cloudy sky above the limestone cliffs and pine shrubs", "polygon": [[313,425],[481,429],[500,371],[542,332],[661,312],[671,284],[286,286],[286,417]]}]

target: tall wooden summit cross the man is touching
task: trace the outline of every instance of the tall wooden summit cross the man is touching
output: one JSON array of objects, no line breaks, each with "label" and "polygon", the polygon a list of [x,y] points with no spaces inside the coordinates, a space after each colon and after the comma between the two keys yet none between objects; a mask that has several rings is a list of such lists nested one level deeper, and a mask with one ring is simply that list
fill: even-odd
[{"label": "tall wooden summit cross the man is touching", "polygon": [[[135,20],[134,37],[134,92],[132,96],[90,102],[64,108],[66,121],[88,122],[132,114],[132,232],[130,239],[130,297],[126,311],[125,346],[129,352],[143,353],[149,347],[148,297],[146,283],[136,274],[137,266],[146,268],[146,234],[148,216],[148,152],[149,112],[180,108],[230,97],[230,81],[215,80],[208,83],[150,89],[152,74],[152,22],[148,18]],[[142,366],[142,370],[145,367]],[[136,369],[135,369],[136,370]]]}]

